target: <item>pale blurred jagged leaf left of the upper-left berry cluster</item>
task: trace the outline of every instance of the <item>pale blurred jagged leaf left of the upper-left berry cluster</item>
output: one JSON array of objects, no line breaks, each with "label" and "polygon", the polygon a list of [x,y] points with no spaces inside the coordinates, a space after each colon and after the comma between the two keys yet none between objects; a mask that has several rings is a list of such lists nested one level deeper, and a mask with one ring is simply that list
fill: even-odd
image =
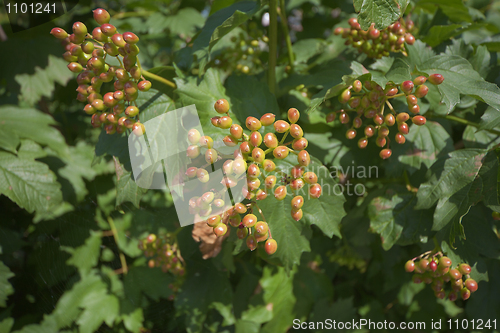
[{"label": "pale blurred jagged leaf left of the upper-left berry cluster", "polygon": [[74,76],[66,66],[63,59],[49,55],[49,64],[44,69],[36,66],[34,74],[16,75],[15,80],[21,85],[19,99],[34,105],[42,96],[51,97],[56,82],[64,86]]}]

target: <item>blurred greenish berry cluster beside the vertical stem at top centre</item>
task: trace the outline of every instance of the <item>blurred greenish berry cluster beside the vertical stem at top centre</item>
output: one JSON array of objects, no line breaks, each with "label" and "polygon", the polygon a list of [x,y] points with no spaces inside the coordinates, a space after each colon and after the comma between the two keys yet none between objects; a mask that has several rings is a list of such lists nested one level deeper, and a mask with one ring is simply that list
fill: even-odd
[{"label": "blurred greenish berry cluster beside the vertical stem at top centre", "polygon": [[230,72],[237,71],[243,74],[255,74],[256,69],[262,68],[261,55],[267,48],[269,38],[256,26],[252,22],[248,34],[240,32],[237,36],[232,36],[233,46],[215,57],[213,64]]}]

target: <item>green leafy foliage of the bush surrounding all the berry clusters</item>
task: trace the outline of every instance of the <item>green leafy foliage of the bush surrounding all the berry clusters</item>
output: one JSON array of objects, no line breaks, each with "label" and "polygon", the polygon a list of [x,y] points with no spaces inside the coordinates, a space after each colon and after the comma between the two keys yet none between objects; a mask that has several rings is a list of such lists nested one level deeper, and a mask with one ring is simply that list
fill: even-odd
[{"label": "green leafy foliage of the bush surrounding all the berry clusters", "polygon": [[[202,259],[193,227],[178,229],[169,192],[133,182],[126,137],[92,129],[75,100],[74,75],[49,31],[70,30],[74,21],[94,27],[96,7],[108,9],[120,31],[140,36],[143,67],[177,85],[153,80],[154,90],[141,97],[148,105],[141,119],[194,103],[207,125],[219,98],[230,101],[239,123],[296,107],[316,167],[378,167],[371,178],[324,173],[325,184],[347,179],[366,194],[325,194],[306,202],[299,222],[289,199],[266,199],[275,255],[248,251],[233,232],[218,256]],[[499,223],[492,218],[500,212],[499,3],[289,0],[285,7],[295,61],[287,68],[279,30],[275,96],[266,49],[252,76],[216,61],[239,47],[231,37],[267,34],[266,2],[81,1],[56,21],[15,34],[0,13],[7,35],[0,42],[0,332],[277,333],[292,330],[294,318],[500,319]],[[411,16],[418,41],[407,57],[358,55],[332,34],[355,10],[363,28]],[[385,86],[412,73],[442,73],[445,81],[421,103],[427,124],[411,126],[390,159],[379,159],[373,144],[358,149],[344,125],[326,123],[351,75]],[[178,232],[187,270],[174,301],[168,285],[175,278],[147,267],[137,247],[148,233],[167,231]],[[479,290],[470,300],[437,300],[404,272],[408,259],[435,243],[454,264],[473,267]],[[120,254],[127,274],[114,272]]]}]

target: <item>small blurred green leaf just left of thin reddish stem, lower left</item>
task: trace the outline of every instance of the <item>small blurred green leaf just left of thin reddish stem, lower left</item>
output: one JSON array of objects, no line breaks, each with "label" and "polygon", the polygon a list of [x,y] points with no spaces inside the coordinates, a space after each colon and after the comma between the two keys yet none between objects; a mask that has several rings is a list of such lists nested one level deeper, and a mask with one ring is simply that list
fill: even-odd
[{"label": "small blurred green leaf just left of thin reddish stem, lower left", "polygon": [[84,276],[97,265],[99,254],[101,253],[102,233],[90,231],[90,237],[85,240],[85,244],[77,247],[64,247],[63,250],[71,254],[71,258],[66,262],[78,268],[80,275]]}]

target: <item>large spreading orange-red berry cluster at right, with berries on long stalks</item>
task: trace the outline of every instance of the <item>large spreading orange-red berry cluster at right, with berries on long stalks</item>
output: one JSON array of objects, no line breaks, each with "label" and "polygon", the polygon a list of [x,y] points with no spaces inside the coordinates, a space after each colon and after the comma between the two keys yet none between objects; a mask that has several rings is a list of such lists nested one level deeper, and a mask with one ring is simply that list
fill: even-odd
[{"label": "large spreading orange-red berry cluster at right, with berries on long stalks", "polygon": [[[350,140],[356,138],[358,130],[364,125],[364,136],[359,139],[358,147],[366,148],[368,139],[376,135],[376,145],[380,148],[387,146],[380,151],[380,157],[387,159],[392,154],[388,138],[389,127],[397,124],[398,133],[395,135],[395,141],[399,144],[405,143],[405,135],[409,132],[407,121],[411,118],[417,126],[422,126],[426,122],[424,116],[418,115],[420,112],[418,99],[427,95],[429,91],[424,83],[429,81],[438,85],[443,80],[444,77],[441,74],[432,74],[428,78],[419,76],[413,81],[404,81],[399,87],[389,82],[385,89],[373,81],[361,83],[361,81],[355,80],[339,95],[339,102],[347,104],[348,107],[328,114],[326,121],[333,122],[338,115],[342,124],[350,124],[346,132],[346,137]],[[394,111],[389,100],[398,97],[406,97],[408,110],[413,116],[406,112],[396,113]],[[386,106],[389,112],[384,114]],[[353,118],[352,122],[351,117]],[[373,124],[371,124],[372,122]]]}]

